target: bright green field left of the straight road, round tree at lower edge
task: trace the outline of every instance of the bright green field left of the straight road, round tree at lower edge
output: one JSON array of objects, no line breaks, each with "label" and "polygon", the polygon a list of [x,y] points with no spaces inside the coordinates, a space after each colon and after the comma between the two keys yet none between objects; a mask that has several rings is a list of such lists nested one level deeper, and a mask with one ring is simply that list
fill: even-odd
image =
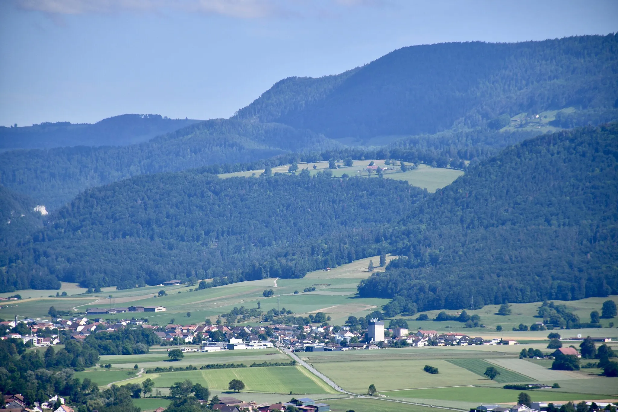
[{"label": "bright green field left of the straight road, round tree at lower edge", "polygon": [[240,379],[245,384],[243,392],[334,393],[328,385],[300,366],[166,372],[154,378],[156,387],[170,387],[174,382],[185,379],[218,390],[227,390],[230,380]]}]

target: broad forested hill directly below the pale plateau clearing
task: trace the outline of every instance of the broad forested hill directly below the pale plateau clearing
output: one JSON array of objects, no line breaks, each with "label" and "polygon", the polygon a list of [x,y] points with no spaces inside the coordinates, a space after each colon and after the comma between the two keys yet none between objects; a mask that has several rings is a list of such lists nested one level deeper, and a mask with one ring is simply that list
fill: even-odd
[{"label": "broad forested hill directly below the pale plateau clearing", "polygon": [[2,253],[0,290],[215,277],[215,285],[374,256],[426,191],[391,179],[142,175],[80,194]]}]

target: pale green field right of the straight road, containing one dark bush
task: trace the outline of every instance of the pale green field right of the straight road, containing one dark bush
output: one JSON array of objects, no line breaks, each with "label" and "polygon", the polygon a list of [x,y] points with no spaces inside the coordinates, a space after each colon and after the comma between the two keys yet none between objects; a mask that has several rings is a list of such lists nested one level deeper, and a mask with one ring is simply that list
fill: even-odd
[{"label": "pale green field right of the straight road, containing one dark bush", "polygon": [[[429,374],[423,371],[426,364],[438,368],[440,373]],[[355,393],[367,392],[371,384],[375,384],[379,391],[481,385],[491,382],[442,359],[332,361],[315,363],[313,366],[344,389]]]}]

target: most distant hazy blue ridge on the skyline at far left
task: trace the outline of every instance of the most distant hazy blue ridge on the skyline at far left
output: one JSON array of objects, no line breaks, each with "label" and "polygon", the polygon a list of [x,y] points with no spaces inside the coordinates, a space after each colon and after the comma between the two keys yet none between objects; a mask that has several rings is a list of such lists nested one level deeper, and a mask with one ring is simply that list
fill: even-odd
[{"label": "most distant hazy blue ridge on the skyline at far left", "polygon": [[0,126],[0,150],[125,146],[141,143],[201,121],[167,119],[159,114],[122,114],[95,124],[46,122],[26,127]]}]

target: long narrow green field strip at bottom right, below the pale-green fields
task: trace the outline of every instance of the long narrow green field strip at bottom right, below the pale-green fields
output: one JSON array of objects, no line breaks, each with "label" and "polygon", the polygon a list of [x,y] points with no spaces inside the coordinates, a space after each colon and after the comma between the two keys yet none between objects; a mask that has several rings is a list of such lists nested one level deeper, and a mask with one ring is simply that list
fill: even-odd
[{"label": "long narrow green field strip at bottom right, below the pale-green fields", "polygon": [[[470,403],[514,403],[521,390],[486,388],[486,387],[455,387],[435,389],[414,389],[383,392],[387,397],[404,400],[454,400]],[[593,400],[598,395],[590,393],[564,393],[554,390],[539,389],[526,391],[533,401],[570,401],[570,400]],[[420,402],[425,403],[425,402]]]}]

